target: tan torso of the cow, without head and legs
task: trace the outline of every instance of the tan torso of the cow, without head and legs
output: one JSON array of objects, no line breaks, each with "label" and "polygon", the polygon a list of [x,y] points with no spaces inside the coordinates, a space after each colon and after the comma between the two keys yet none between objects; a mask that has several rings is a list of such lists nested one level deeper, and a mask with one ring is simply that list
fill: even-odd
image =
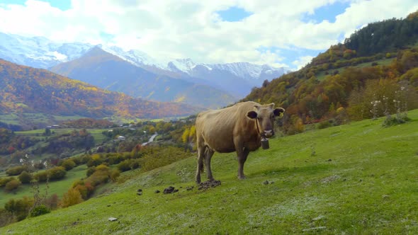
[{"label": "tan torso of the cow, without head and legs", "polygon": [[204,144],[215,151],[225,153],[235,151],[234,137],[251,128],[246,115],[254,109],[254,102],[237,103],[220,110],[199,113],[196,119],[198,145]]}]

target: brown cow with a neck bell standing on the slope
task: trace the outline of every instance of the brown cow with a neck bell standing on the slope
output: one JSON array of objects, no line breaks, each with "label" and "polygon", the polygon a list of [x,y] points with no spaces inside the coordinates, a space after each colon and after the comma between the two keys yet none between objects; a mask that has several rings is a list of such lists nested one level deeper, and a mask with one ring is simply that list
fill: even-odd
[{"label": "brown cow with a neck bell standing on the slope", "polygon": [[260,105],[252,101],[237,103],[220,110],[199,113],[196,119],[198,167],[196,183],[200,183],[205,161],[208,180],[213,181],[210,159],[215,151],[237,151],[238,178],[243,179],[244,163],[250,151],[261,146],[261,137],[272,137],[274,117],[284,113],[284,108],[275,108],[274,103]]}]

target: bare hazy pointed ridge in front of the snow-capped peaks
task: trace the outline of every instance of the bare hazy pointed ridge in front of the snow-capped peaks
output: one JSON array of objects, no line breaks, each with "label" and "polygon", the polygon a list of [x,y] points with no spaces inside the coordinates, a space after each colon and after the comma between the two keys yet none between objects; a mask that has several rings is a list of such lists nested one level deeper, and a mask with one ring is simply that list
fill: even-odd
[{"label": "bare hazy pointed ridge in front of the snow-capped peaks", "polygon": [[[205,108],[221,108],[237,101],[237,98],[220,89],[136,67],[100,47],[93,47],[78,59],[57,64],[50,70],[94,86],[147,100],[176,101]],[[195,93],[192,87],[208,92]]]}]

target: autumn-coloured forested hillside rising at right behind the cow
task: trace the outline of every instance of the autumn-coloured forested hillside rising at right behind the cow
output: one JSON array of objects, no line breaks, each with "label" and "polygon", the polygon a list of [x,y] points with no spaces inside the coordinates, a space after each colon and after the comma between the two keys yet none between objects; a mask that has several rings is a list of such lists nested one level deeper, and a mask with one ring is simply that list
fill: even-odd
[{"label": "autumn-coloured forested hillside rising at right behind the cow", "polygon": [[265,81],[244,101],[286,108],[288,134],[302,132],[307,123],[339,125],[418,108],[417,41],[418,12],[371,23],[303,69]]}]

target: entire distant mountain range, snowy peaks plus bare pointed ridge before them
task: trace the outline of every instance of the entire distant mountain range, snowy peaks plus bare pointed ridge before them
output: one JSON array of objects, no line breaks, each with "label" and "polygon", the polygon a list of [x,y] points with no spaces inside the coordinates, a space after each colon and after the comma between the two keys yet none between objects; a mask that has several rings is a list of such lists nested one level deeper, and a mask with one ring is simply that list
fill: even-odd
[{"label": "entire distant mountain range, snowy peaks plus bare pointed ridge before them", "polygon": [[50,69],[71,79],[138,98],[205,108],[220,108],[238,101],[264,80],[289,71],[247,62],[203,64],[191,59],[158,62],[139,50],[5,33],[0,33],[0,58]]}]

